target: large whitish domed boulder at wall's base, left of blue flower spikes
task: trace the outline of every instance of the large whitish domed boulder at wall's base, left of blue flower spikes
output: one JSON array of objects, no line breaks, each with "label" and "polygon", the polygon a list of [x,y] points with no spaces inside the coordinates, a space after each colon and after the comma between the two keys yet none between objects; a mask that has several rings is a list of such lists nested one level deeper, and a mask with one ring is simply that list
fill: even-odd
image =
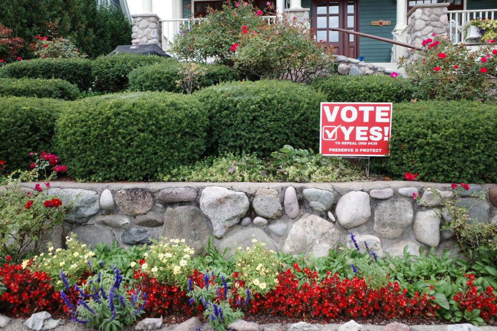
[{"label": "large whitish domed boulder at wall's base, left of blue flower spikes", "polygon": [[292,224],[283,246],[286,254],[312,253],[315,257],[327,256],[340,240],[334,225],[317,215],[304,214]]}]

